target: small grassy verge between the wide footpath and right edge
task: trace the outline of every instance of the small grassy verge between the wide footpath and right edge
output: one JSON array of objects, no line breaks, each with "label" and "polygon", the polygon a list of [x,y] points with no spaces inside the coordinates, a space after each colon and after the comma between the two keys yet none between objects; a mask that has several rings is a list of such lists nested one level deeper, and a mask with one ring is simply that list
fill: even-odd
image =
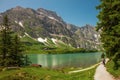
[{"label": "small grassy verge between the wide footpath and right edge", "polygon": [[107,71],[110,72],[110,74],[112,74],[115,78],[120,78],[120,67],[118,70],[114,70],[113,69],[114,63],[113,61],[109,61],[106,65],[107,67]]}]

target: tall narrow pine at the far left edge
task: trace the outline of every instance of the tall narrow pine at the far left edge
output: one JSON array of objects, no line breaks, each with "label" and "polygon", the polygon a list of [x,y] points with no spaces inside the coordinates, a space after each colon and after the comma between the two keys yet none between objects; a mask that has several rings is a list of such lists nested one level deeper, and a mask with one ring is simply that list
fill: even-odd
[{"label": "tall narrow pine at the far left edge", "polygon": [[7,15],[4,16],[3,24],[1,25],[1,33],[0,33],[0,65],[8,66],[10,64],[11,59],[8,57],[11,53],[12,46],[12,36],[10,30],[10,23]]}]

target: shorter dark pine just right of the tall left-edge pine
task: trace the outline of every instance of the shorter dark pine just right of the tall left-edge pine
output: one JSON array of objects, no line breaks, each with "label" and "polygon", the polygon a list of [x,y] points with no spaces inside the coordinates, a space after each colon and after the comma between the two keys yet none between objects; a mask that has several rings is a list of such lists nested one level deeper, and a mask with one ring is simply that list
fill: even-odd
[{"label": "shorter dark pine just right of the tall left-edge pine", "polygon": [[12,58],[12,66],[22,66],[24,65],[24,57],[23,57],[23,45],[20,42],[20,38],[18,35],[15,35],[13,38],[13,46],[12,46],[12,53],[10,57]]}]

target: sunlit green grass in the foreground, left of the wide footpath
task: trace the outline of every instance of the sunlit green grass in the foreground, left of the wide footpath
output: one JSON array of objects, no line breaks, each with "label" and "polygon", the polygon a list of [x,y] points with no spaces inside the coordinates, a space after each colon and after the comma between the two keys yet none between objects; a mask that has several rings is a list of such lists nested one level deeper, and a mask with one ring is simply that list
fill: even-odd
[{"label": "sunlit green grass in the foreground, left of the wide footpath", "polygon": [[93,80],[95,68],[67,74],[60,70],[27,67],[20,70],[0,71],[0,80]]}]

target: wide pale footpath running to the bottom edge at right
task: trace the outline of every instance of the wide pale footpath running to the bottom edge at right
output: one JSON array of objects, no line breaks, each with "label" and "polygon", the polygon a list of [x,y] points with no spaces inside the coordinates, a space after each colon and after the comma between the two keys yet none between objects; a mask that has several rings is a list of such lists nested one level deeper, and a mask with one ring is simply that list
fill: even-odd
[{"label": "wide pale footpath running to the bottom edge at right", "polygon": [[[108,59],[106,59],[106,62]],[[106,71],[106,67],[102,63],[97,67],[94,80],[115,80],[112,75]]]}]

